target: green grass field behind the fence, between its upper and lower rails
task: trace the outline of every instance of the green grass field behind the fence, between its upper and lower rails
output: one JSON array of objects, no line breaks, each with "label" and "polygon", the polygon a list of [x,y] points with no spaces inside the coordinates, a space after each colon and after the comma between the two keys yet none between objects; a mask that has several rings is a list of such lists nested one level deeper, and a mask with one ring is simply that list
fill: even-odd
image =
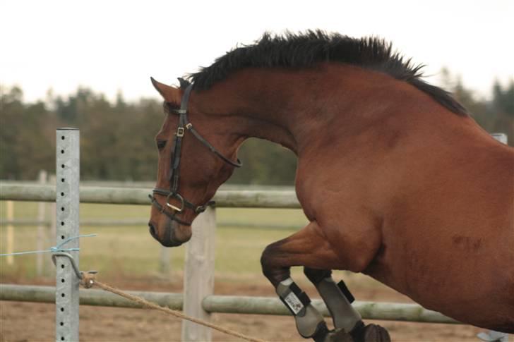
[{"label": "green grass field behind the fence, between its upper and lower rails", "polygon": [[[0,219],[6,220],[6,202],[0,202]],[[50,204],[48,204],[50,207]],[[94,219],[147,219],[150,206],[80,204],[80,220]],[[231,222],[231,226],[218,226],[216,235],[215,271],[224,276],[260,274],[259,259],[266,245],[293,233],[306,219],[297,209],[217,209],[217,221]],[[47,219],[53,213],[48,210]],[[37,204],[15,202],[15,219],[36,219]],[[248,228],[245,224],[264,226],[291,226],[292,228]],[[234,225],[235,224],[235,225]],[[237,226],[241,224],[241,226]],[[15,226],[14,250],[36,248],[36,227]],[[81,234],[97,233],[95,238],[80,240],[80,268],[97,269],[104,274],[131,274],[147,276],[159,271],[160,245],[141,226],[81,226]],[[0,227],[0,252],[6,252],[6,226]],[[193,237],[194,238],[194,237]],[[49,248],[52,240],[45,243]],[[173,248],[170,253],[172,274],[179,274],[184,264],[184,248]],[[234,257],[237,256],[237,257]],[[49,255],[47,255],[49,258]],[[35,276],[35,256],[17,256],[11,266],[6,258],[0,259],[0,278],[32,278]]]}]

